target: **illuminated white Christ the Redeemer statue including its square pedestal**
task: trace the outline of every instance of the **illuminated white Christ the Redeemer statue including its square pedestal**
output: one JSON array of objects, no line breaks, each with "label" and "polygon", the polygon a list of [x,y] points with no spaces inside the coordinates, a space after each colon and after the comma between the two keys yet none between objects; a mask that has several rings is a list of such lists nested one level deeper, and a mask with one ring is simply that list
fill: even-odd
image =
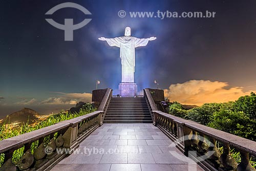
[{"label": "illuminated white Christ the Redeemer statue including its square pedestal", "polygon": [[109,46],[120,48],[120,58],[122,64],[122,83],[119,84],[119,94],[122,97],[134,97],[137,95],[137,84],[134,83],[135,72],[135,48],[146,46],[148,41],[155,40],[156,37],[137,38],[131,36],[131,28],[126,27],[124,36],[115,38],[100,37]]}]

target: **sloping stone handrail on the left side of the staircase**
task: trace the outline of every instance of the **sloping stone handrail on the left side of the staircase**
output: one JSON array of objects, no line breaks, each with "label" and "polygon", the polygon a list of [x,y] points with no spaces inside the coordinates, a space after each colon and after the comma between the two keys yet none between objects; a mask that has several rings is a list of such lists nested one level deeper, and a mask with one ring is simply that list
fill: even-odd
[{"label": "sloping stone handrail on the left side of the staircase", "polygon": [[104,120],[105,115],[106,115],[106,110],[108,110],[108,108],[109,108],[110,100],[112,98],[112,92],[113,92],[112,89],[106,90],[106,93],[105,93],[105,95],[104,95],[104,97],[103,97],[103,99],[102,99],[102,101],[99,105],[98,110],[102,111],[102,115],[101,115],[101,119],[100,119],[100,125],[103,124],[103,120]]}]

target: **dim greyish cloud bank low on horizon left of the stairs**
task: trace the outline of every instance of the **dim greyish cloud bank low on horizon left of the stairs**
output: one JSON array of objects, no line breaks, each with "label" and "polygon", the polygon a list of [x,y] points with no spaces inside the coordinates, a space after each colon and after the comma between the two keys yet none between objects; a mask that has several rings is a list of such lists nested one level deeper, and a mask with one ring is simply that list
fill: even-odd
[{"label": "dim greyish cloud bank low on horizon left of the stairs", "polygon": [[61,93],[59,97],[50,97],[46,100],[41,101],[41,104],[76,104],[79,101],[91,102],[92,94],[91,93]]}]

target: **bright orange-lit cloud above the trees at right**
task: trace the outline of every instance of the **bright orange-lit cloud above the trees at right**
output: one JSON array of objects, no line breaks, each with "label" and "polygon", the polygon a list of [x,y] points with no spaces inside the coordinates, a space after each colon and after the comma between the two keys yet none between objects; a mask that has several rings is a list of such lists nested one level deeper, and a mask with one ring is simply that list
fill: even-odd
[{"label": "bright orange-lit cloud above the trees at right", "polygon": [[227,82],[189,80],[184,83],[171,84],[169,89],[164,90],[164,94],[170,101],[202,105],[203,103],[234,101],[251,92],[244,92],[243,87],[227,89],[228,86]]}]

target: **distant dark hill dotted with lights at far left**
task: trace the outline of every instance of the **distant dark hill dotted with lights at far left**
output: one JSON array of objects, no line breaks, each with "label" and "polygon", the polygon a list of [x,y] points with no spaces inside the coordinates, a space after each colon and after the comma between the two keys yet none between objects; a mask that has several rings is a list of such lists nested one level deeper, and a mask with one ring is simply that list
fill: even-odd
[{"label": "distant dark hill dotted with lights at far left", "polygon": [[27,123],[29,120],[29,124],[34,123],[36,120],[38,120],[38,116],[40,115],[36,111],[28,108],[24,108],[20,111],[14,112],[10,115],[7,115],[5,119],[0,123],[2,125],[3,123],[6,124],[13,124],[13,123]]}]

